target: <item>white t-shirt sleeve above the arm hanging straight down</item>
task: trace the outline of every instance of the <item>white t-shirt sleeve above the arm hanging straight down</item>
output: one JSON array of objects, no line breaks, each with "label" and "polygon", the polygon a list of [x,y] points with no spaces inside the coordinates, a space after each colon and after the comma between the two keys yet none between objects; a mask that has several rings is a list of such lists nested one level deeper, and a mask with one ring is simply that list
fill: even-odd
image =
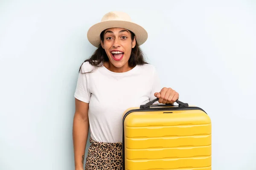
[{"label": "white t-shirt sleeve above the arm hanging straight down", "polygon": [[82,102],[89,103],[90,102],[90,91],[88,89],[88,79],[86,74],[82,74],[81,71],[78,75],[76,91],[75,91],[75,98],[81,100]]}]

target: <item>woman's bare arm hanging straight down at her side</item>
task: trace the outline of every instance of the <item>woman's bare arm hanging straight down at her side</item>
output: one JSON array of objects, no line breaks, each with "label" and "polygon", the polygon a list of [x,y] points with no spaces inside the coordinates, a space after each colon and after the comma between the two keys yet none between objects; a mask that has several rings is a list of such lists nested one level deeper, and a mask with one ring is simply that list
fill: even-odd
[{"label": "woman's bare arm hanging straight down at her side", "polygon": [[73,146],[76,170],[83,170],[85,147],[89,131],[89,103],[75,99],[76,112],[73,118]]}]

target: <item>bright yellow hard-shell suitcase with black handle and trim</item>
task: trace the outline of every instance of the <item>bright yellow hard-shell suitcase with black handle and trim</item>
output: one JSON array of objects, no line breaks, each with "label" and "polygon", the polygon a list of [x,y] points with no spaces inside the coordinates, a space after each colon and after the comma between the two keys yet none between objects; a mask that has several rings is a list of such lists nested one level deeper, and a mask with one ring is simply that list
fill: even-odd
[{"label": "bright yellow hard-shell suitcase with black handle and trim", "polygon": [[157,104],[123,115],[123,170],[211,170],[211,120],[198,107]]}]

